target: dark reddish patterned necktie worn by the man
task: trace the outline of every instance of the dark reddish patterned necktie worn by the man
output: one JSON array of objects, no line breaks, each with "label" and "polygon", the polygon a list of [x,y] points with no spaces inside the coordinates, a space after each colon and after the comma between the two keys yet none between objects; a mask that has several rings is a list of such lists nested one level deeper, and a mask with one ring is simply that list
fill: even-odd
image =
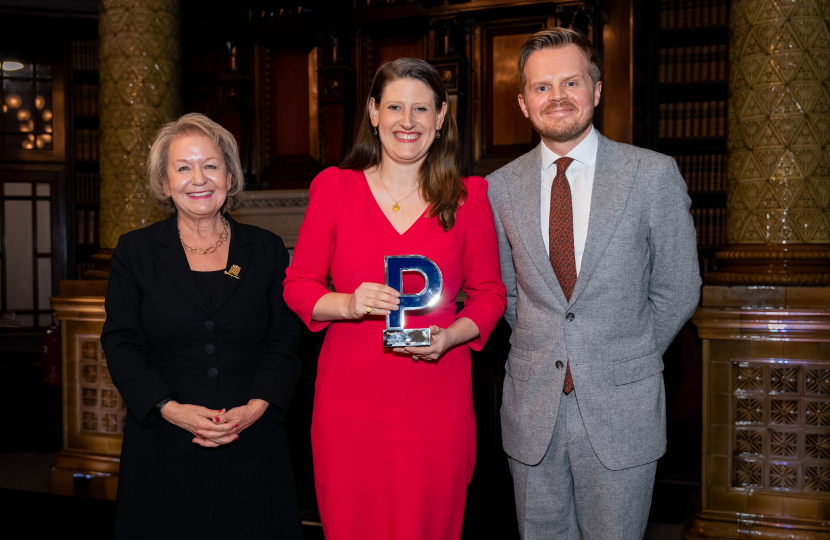
[{"label": "dark reddish patterned necktie worn by the man", "polygon": [[[573,158],[559,158],[555,162],[556,176],[550,187],[550,264],[559,280],[559,286],[570,302],[576,284],[576,259],[574,257],[574,214],[571,200],[571,185],[565,171],[573,163]],[[562,391],[570,394],[574,389],[571,377],[571,363],[565,371],[565,384]]]}]

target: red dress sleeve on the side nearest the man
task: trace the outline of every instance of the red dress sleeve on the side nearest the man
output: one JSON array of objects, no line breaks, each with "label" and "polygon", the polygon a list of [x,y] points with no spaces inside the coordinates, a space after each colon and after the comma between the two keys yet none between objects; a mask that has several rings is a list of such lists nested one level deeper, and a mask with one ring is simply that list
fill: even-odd
[{"label": "red dress sleeve on the side nearest the man", "polygon": [[480,351],[496,327],[507,306],[505,287],[501,281],[499,246],[493,212],[487,200],[487,180],[467,179],[467,230],[464,238],[464,283],[467,293],[464,308],[456,319],[466,317],[478,327],[479,337],[469,343]]}]

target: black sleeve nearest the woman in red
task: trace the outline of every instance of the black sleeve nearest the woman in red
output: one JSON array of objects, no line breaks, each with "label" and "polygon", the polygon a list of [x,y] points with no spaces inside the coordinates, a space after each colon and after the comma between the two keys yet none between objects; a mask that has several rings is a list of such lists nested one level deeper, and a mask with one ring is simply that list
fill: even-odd
[{"label": "black sleeve nearest the woman in red", "polygon": [[288,250],[282,239],[277,247],[276,272],[269,293],[271,324],[265,338],[265,348],[259,369],[254,376],[250,399],[264,399],[271,404],[266,418],[282,420],[294,397],[303,364],[297,357],[300,343],[300,323],[283,299],[283,280],[288,267]]}]

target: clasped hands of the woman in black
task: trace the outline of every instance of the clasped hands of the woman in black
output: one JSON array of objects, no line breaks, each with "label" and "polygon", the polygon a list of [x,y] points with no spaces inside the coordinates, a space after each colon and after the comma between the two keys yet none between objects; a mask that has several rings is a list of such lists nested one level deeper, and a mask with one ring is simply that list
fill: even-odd
[{"label": "clasped hands of the woman in black", "polygon": [[162,408],[161,416],[192,433],[194,444],[216,448],[238,439],[239,434],[259,420],[267,409],[268,402],[261,399],[252,399],[247,405],[228,411],[171,401]]}]

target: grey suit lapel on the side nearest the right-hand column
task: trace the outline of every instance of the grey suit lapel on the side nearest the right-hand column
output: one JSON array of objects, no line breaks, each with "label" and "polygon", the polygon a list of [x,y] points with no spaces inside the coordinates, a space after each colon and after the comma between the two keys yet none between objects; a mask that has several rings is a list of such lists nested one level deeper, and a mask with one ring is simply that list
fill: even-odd
[{"label": "grey suit lapel on the side nearest the right-hand column", "polygon": [[638,161],[620,151],[614,141],[597,133],[597,164],[594,185],[591,190],[591,214],[588,220],[588,238],[582,265],[576,280],[571,303],[585,290],[591,274],[599,264],[602,254],[611,242],[617,224],[622,217],[628,193],[637,172]]}]

